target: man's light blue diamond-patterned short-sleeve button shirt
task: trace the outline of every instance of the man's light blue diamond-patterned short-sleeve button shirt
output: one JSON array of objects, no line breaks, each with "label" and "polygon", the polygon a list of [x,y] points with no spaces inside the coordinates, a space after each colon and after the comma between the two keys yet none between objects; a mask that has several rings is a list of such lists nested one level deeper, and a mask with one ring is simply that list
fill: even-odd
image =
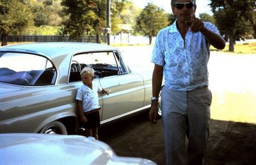
[{"label": "man's light blue diamond-patterned short-sleeve button shirt", "polygon": [[[215,25],[204,22],[210,31],[220,34]],[[188,91],[208,85],[207,63],[210,45],[201,32],[190,29],[182,38],[176,21],[159,31],[154,45],[154,64],[164,66],[164,86],[168,89]]]}]

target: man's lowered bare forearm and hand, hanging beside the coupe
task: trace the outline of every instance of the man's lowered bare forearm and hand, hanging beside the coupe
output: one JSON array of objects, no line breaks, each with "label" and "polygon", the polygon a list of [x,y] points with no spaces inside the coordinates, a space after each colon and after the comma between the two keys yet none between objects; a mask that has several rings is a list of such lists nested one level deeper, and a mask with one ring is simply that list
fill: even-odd
[{"label": "man's lowered bare forearm and hand, hanging beside the coupe", "polygon": [[[155,64],[153,75],[152,75],[152,95],[153,97],[159,97],[163,82],[163,66]],[[157,118],[157,107],[158,100],[152,101],[150,111],[148,113],[148,118],[150,122],[156,123]]]}]

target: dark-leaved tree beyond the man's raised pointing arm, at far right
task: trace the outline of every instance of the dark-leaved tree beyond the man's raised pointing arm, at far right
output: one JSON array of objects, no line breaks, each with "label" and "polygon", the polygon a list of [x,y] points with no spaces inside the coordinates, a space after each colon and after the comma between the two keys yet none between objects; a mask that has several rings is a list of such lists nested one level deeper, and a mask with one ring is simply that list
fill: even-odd
[{"label": "dark-leaved tree beyond the man's raised pointing arm, at far right", "polygon": [[236,38],[252,31],[255,0],[212,0],[210,6],[221,34],[229,39],[228,51],[234,52]]}]

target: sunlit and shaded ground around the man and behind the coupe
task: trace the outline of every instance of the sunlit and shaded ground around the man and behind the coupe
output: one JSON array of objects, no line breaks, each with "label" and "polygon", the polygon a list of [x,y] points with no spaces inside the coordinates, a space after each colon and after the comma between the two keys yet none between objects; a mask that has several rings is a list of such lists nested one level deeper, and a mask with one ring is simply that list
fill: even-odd
[{"label": "sunlit and shaded ground around the man and behind the coupe", "polygon": [[[134,65],[133,69],[141,65],[152,68],[152,47],[120,47],[120,50],[125,50],[124,57]],[[206,164],[256,163],[255,64],[256,55],[211,54],[213,100]],[[150,124],[147,112],[101,127],[99,136],[120,156],[143,157],[157,164],[165,162],[161,118],[156,125]]]}]

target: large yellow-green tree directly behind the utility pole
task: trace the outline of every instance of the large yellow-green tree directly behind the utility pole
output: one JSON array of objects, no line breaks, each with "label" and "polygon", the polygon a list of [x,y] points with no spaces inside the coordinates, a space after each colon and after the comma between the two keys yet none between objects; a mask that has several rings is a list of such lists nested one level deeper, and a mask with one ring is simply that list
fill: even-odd
[{"label": "large yellow-green tree directly behind the utility pole", "polygon": [[[127,0],[111,1],[111,23],[115,28],[120,23],[118,15],[124,8]],[[97,43],[100,43],[100,35],[106,27],[106,0],[63,0],[61,3],[64,7],[68,19],[64,22],[63,34],[75,41],[81,41],[83,36],[96,35]]]}]

